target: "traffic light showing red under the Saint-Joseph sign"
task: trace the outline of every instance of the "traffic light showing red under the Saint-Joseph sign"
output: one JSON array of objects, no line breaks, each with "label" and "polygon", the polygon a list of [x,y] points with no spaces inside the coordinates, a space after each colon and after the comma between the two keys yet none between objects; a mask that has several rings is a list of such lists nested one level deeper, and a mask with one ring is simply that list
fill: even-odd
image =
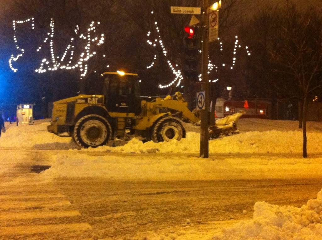
[{"label": "traffic light showing red under the Saint-Joseph sign", "polygon": [[198,27],[185,26],[184,32],[184,68],[183,73],[188,81],[199,81],[199,34]]}]

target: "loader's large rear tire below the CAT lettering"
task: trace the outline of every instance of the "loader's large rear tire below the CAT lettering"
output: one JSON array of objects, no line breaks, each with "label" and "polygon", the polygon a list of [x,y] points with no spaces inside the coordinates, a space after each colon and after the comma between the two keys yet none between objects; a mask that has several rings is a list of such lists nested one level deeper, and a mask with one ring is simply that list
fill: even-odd
[{"label": "loader's large rear tire below the CAT lettering", "polygon": [[112,135],[109,122],[102,116],[90,114],[83,116],[74,127],[75,142],[84,148],[105,145]]}]

